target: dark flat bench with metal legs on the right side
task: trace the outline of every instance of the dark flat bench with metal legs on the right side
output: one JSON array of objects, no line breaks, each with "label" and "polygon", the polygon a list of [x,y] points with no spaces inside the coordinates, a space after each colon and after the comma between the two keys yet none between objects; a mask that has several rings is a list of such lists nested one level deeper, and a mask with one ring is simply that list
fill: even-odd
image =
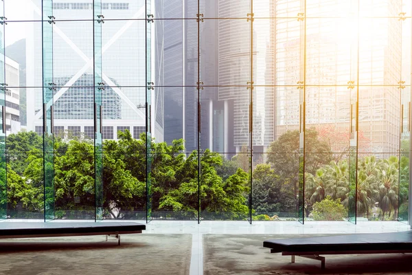
[{"label": "dark flat bench with metal legs on the right side", "polygon": [[292,263],[295,256],[319,260],[323,269],[325,258],[321,254],[412,253],[412,231],[273,239],[264,241],[263,246],[271,248],[271,253],[291,256]]}]

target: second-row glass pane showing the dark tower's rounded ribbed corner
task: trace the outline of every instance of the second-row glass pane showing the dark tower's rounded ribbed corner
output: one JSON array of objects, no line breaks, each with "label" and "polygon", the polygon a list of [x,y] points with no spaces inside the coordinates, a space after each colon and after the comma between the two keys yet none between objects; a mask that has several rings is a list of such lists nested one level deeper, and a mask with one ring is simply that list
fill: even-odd
[{"label": "second-row glass pane showing the dark tower's rounded ribbed corner", "polygon": [[205,19],[200,25],[201,82],[218,86],[219,100],[232,100],[251,81],[251,22]]}]

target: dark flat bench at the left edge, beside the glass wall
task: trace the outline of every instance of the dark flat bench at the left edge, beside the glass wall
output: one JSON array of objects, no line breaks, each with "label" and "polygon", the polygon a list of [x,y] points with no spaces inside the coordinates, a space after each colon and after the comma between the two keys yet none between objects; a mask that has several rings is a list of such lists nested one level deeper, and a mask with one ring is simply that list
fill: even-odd
[{"label": "dark flat bench at the left edge, beside the glass wall", "polygon": [[115,236],[120,245],[120,234],[141,233],[146,225],[133,222],[0,222],[0,239],[38,238],[48,236]]}]

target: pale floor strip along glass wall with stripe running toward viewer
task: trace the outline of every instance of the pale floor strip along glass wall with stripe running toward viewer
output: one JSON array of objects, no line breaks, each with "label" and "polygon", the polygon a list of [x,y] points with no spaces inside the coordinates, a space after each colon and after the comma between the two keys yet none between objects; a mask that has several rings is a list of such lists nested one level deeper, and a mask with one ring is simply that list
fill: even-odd
[{"label": "pale floor strip along glass wall with stripe running toward viewer", "polygon": [[[13,221],[16,220],[1,222]],[[63,221],[67,222],[67,220]],[[145,223],[145,221],[137,222]],[[349,221],[307,221],[304,225],[297,221],[253,221],[252,224],[247,221],[201,221],[200,224],[197,221],[150,221],[146,225],[144,234],[192,234],[190,275],[201,275],[203,274],[203,234],[347,234],[406,230],[409,230],[409,225],[399,221],[358,221],[356,225]]]}]

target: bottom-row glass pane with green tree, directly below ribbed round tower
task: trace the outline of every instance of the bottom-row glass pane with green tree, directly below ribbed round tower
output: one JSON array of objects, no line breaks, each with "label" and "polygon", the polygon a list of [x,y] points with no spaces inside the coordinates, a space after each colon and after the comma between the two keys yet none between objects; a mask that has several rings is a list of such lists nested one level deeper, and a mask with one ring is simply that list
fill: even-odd
[{"label": "bottom-row glass pane with green tree, directly below ribbed round tower", "polygon": [[201,154],[200,201],[203,220],[246,220],[249,217],[250,154]]}]

